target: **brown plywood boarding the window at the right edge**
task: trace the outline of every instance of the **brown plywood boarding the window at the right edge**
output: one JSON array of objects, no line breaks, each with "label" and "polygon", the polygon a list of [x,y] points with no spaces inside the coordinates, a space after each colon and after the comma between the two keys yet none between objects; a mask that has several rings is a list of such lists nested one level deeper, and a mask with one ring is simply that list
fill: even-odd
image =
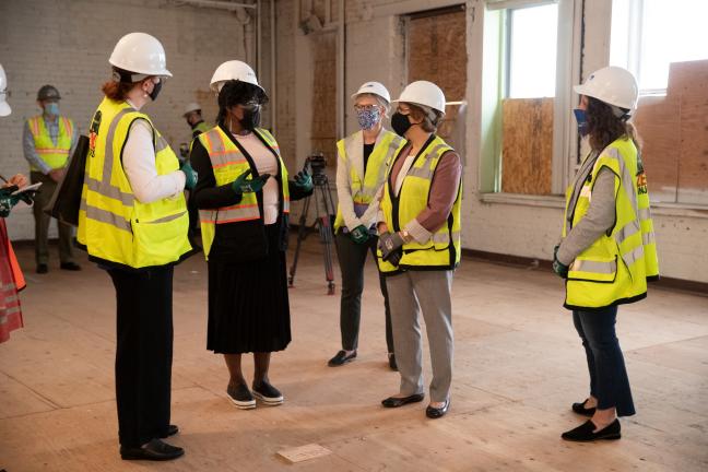
[{"label": "brown plywood boarding the window at the right edge", "polygon": [[635,125],[652,201],[708,204],[708,60],[672,63],[666,95],[642,97]]}]

